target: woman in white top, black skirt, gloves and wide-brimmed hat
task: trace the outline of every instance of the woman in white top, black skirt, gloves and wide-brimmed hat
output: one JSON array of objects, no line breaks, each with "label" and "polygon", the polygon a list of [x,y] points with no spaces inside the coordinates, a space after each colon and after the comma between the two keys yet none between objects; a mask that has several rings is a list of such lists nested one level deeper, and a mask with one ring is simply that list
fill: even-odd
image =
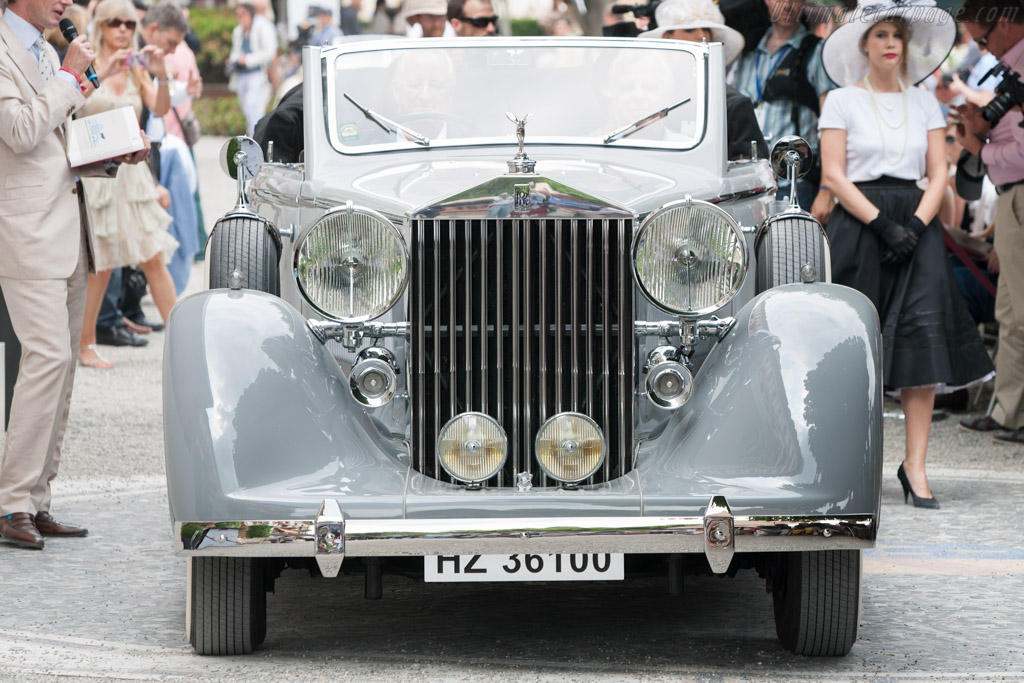
[{"label": "woman in white top, black skirt, gloves and wide-brimmed hat", "polygon": [[[937,386],[965,386],[992,366],[956,290],[936,219],[946,185],[945,121],[935,96],[913,87],[945,59],[952,17],[934,5],[860,7],[825,42],[839,85],[821,130],[822,181],[839,206],[828,220],[833,281],[874,303],[883,380],[899,389],[906,452],[904,501],[937,508],[925,473]],[[928,189],[918,181],[928,179]]]}]

